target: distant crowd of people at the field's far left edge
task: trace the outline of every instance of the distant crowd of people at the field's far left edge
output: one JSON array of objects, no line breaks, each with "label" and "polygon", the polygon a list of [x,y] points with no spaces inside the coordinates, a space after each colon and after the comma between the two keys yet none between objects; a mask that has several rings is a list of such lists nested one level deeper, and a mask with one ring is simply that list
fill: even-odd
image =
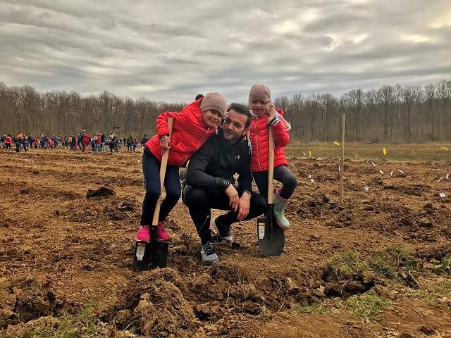
[{"label": "distant crowd of people at the field's far left edge", "polygon": [[91,151],[119,151],[121,147],[127,147],[127,151],[135,151],[138,145],[143,146],[149,137],[117,137],[115,132],[111,132],[109,137],[103,132],[96,132],[90,137],[85,129],[82,129],[76,136],[48,136],[41,134],[33,136],[30,133],[18,132],[16,136],[11,134],[0,136],[0,149],[16,149],[19,151],[27,151],[29,149],[70,149],[73,151],[85,152],[86,149]]}]

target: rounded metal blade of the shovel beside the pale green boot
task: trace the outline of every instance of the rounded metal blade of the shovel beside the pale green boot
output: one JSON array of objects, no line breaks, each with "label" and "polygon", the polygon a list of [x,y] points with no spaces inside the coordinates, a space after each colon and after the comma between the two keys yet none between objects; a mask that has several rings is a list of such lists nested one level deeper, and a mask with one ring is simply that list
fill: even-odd
[{"label": "rounded metal blade of the shovel beside the pale green boot", "polygon": [[272,206],[264,217],[257,218],[257,232],[261,256],[280,256],[285,247],[285,234],[274,219]]}]

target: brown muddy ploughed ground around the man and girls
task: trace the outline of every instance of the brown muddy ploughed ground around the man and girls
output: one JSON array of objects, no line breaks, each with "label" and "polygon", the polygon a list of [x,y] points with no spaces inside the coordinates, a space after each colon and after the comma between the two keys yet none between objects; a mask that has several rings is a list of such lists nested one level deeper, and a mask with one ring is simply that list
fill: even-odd
[{"label": "brown muddy ploughed ground around the man and girls", "polygon": [[[0,151],[0,336],[57,327],[89,306],[111,336],[451,337],[450,163],[346,161],[341,206],[337,160],[292,158],[299,187],[281,256],[261,258],[248,221],[233,226],[239,248],[217,246],[220,263],[202,265],[180,201],[168,267],[135,273],[141,156]],[[116,195],[87,199],[101,186]],[[390,248],[414,265],[401,255],[384,256],[397,260],[392,273],[331,263]],[[350,299],[364,295],[385,302],[379,315],[353,312]]]}]

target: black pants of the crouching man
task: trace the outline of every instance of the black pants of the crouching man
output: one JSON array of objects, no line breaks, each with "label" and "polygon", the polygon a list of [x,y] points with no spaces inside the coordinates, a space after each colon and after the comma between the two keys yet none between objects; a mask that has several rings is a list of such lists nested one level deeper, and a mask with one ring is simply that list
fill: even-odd
[{"label": "black pants of the crouching man", "polygon": [[[211,209],[228,210],[221,218],[223,225],[237,222],[237,211],[230,210],[229,199],[225,192],[211,192],[206,189],[186,185],[182,194],[183,203],[190,210],[190,215],[202,244],[213,242],[210,231]],[[266,210],[266,200],[257,192],[252,192],[249,214],[245,220],[255,218]]]}]

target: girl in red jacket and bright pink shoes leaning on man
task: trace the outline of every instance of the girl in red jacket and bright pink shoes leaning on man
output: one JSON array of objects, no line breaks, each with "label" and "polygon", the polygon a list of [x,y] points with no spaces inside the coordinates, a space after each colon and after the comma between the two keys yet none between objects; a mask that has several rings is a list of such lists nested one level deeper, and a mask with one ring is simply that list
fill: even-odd
[{"label": "girl in red jacket and bright pink shoes leaning on man", "polygon": [[[149,225],[152,224],[156,202],[160,196],[159,172],[162,151],[171,149],[164,182],[166,197],[161,202],[156,237],[167,240],[169,234],[164,229],[163,221],[180,198],[178,169],[185,166],[194,151],[197,151],[216,132],[226,109],[227,103],[224,96],[218,93],[209,93],[185,106],[178,113],[167,111],[156,118],[157,134],[144,144],[142,156],[146,194],[142,202],[141,227],[137,232],[137,240],[150,241]],[[174,118],[171,143],[168,139],[168,118]]]}]

